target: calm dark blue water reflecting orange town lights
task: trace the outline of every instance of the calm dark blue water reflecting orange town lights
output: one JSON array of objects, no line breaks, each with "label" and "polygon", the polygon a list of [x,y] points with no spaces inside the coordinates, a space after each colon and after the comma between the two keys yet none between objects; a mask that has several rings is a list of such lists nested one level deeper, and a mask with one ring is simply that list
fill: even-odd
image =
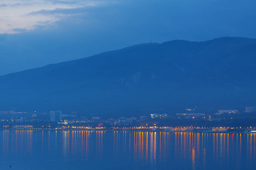
[{"label": "calm dark blue water reflecting orange town lights", "polygon": [[256,169],[255,138],[254,134],[1,130],[0,169]]}]

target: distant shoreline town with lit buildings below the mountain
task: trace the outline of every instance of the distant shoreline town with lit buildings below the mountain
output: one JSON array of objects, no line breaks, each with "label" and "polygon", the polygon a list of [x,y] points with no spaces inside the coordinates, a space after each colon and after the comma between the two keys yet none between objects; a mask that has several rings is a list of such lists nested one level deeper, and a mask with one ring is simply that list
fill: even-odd
[{"label": "distant shoreline town with lit buildings below the mountain", "polygon": [[221,133],[256,133],[256,107],[219,110],[217,113],[145,114],[138,117],[111,118],[92,114],[90,117],[72,111],[0,112],[0,128],[16,130],[165,130]]}]

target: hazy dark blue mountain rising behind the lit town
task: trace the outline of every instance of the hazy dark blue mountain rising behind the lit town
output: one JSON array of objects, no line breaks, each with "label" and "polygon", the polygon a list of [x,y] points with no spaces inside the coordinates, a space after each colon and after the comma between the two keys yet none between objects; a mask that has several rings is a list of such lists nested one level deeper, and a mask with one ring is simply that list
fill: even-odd
[{"label": "hazy dark blue mountain rising behind the lit town", "polygon": [[[22,54],[21,54],[22,55]],[[256,105],[256,39],[134,45],[0,76],[0,110],[216,112]]]}]

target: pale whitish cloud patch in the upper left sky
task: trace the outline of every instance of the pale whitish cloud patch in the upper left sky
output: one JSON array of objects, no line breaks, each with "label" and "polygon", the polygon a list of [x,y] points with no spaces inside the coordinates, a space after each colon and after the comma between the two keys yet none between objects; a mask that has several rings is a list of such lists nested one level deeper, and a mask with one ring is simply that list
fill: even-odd
[{"label": "pale whitish cloud patch in the upper left sky", "polygon": [[[0,3],[0,33],[19,33],[51,25],[66,16],[67,10],[100,6],[101,0],[2,0]],[[79,10],[77,10],[79,12]]]}]

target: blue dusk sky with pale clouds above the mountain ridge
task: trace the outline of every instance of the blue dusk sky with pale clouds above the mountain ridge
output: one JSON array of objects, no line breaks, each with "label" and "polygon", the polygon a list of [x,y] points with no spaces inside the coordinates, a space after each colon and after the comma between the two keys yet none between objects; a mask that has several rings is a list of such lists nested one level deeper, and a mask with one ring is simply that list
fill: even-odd
[{"label": "blue dusk sky with pale clouds above the mountain ridge", "polygon": [[254,0],[1,0],[0,75],[148,42],[256,38]]}]

